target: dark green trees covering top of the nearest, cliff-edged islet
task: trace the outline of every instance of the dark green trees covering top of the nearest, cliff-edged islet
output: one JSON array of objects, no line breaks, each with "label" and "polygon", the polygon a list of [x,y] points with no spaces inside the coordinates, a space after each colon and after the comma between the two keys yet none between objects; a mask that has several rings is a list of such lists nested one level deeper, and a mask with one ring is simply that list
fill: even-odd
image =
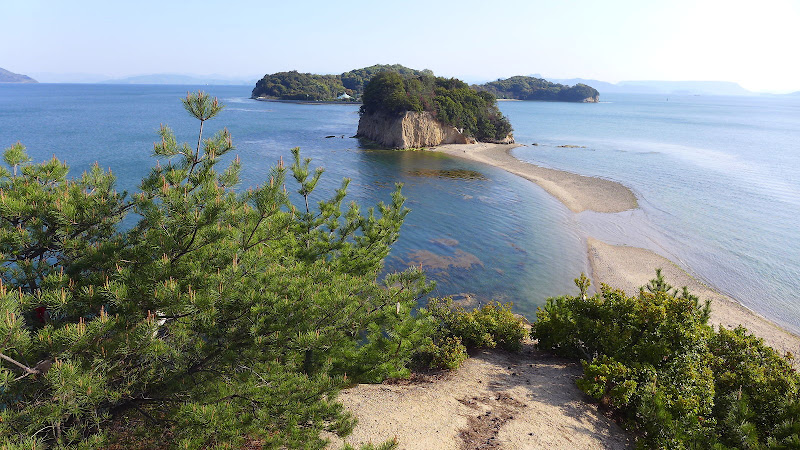
[{"label": "dark green trees covering top of the nearest, cliff-edged islet", "polygon": [[382,72],[367,84],[362,103],[361,114],[428,111],[479,141],[499,141],[511,133],[511,123],[491,94],[478,92],[455,78],[402,77]]}]

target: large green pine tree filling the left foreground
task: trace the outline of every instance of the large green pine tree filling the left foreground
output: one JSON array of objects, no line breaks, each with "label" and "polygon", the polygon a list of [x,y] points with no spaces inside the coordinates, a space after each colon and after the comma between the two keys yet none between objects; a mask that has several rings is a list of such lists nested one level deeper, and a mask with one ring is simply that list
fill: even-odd
[{"label": "large green pine tree filling the left foreground", "polygon": [[[408,210],[342,212],[348,180],[317,200],[321,170],[292,151],[263,185],[239,183],[222,111],[188,94],[196,146],[162,126],[163,159],[132,195],[95,166],[78,180],[21,145],[0,171],[0,439],[96,447],[119,433],[179,447],[324,445],[354,419],[353,381],[408,373],[431,319],[418,270],[378,275]],[[138,222],[121,228],[127,213]],[[138,426],[137,426],[138,425]],[[166,436],[169,442],[164,442]]]}]

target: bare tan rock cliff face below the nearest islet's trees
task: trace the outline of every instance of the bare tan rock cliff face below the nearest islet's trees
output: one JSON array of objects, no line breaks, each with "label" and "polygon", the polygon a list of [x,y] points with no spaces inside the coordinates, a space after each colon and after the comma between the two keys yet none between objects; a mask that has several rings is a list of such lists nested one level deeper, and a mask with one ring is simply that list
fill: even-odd
[{"label": "bare tan rock cliff face below the nearest islet's trees", "polygon": [[363,114],[358,121],[358,137],[365,137],[390,148],[433,147],[474,142],[452,126],[436,120],[429,112],[406,111],[394,116]]}]

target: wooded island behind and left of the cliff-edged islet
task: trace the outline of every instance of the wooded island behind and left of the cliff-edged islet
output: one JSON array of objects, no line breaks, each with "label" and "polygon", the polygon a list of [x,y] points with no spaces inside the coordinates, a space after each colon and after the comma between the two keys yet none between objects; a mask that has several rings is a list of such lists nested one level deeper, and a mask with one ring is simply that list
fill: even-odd
[{"label": "wooded island behind and left of the cliff-edged islet", "polygon": [[339,75],[278,72],[258,80],[252,98],[266,97],[279,100],[334,101],[342,94],[357,101],[373,76],[380,72],[395,72],[402,76],[433,75],[430,70],[415,70],[400,64],[376,64],[354,69]]}]

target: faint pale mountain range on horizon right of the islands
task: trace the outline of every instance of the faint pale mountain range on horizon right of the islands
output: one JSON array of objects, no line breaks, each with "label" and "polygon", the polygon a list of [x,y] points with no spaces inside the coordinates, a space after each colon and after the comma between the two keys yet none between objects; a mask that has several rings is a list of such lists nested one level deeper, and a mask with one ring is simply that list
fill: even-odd
[{"label": "faint pale mountain range on horizon right of the islands", "polygon": [[588,84],[600,91],[600,95],[610,93],[665,94],[665,95],[757,95],[738,83],[730,81],[620,81],[608,83],[583,78],[548,78],[561,84]]}]

